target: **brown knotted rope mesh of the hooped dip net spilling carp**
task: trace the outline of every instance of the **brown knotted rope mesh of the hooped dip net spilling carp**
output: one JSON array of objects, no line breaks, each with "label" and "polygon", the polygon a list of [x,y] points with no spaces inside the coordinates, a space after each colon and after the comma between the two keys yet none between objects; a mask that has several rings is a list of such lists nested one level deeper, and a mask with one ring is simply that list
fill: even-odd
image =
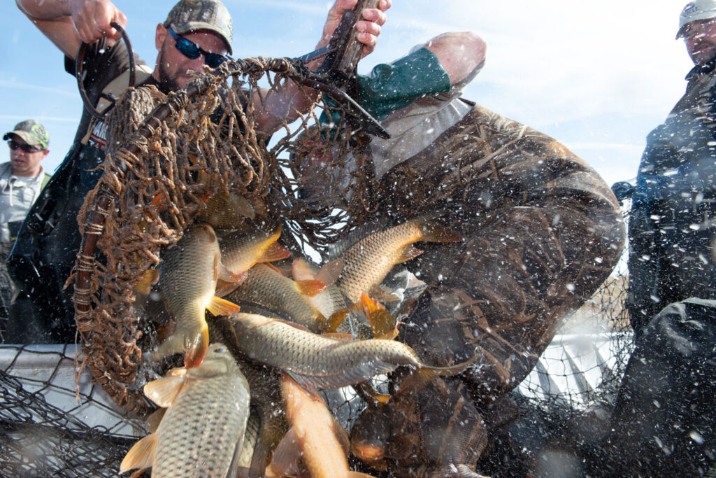
[{"label": "brown knotted rope mesh of the hooped dip net spilling carp", "polygon": [[[316,248],[340,234],[339,224],[347,226],[346,216],[316,215],[325,205],[315,199],[306,207],[308,200],[301,199],[306,179],[292,163],[317,143],[318,137],[306,132],[321,134],[311,128],[320,112],[337,111],[326,105],[330,93],[302,97],[299,101],[311,102],[308,113],[291,124],[284,121],[271,148],[256,128],[254,105],[276,101],[277,90],[291,81],[316,85],[311,75],[289,59],[227,62],[168,97],[153,87],[132,89],[107,118],[112,140],[102,178],[79,214],[83,243],[68,284],[75,284],[83,365],[132,414],[150,409],[134,384],[142,350],[156,339],[155,324],[132,306],[135,287],[160,262],[160,251],[178,242],[205,212],[208,199],[239,195],[253,205],[253,224],[280,217]],[[357,139],[364,134],[350,134],[347,120],[339,120],[338,127],[342,137],[352,139],[329,141],[335,146],[332,170],[344,168],[350,150],[367,142]],[[364,210],[357,193],[364,183],[357,181],[342,194],[352,197],[347,201],[352,220]]]}]

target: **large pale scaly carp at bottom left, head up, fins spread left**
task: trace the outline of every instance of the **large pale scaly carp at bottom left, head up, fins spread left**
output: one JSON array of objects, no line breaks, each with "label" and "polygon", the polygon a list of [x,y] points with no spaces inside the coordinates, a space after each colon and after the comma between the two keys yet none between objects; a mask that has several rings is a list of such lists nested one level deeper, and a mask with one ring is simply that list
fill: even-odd
[{"label": "large pale scaly carp at bottom left, head up, fins spread left", "polygon": [[167,411],[157,431],[132,446],[120,473],[152,467],[152,477],[236,476],[249,389],[223,344],[212,344],[198,367],[175,368],[144,392]]}]

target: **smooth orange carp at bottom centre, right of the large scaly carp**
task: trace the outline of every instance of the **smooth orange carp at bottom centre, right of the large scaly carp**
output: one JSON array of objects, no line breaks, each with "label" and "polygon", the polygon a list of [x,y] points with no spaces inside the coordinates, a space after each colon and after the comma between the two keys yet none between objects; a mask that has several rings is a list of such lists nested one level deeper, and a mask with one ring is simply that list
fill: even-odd
[{"label": "smooth orange carp at bottom centre, right of the large scaly carp", "polygon": [[276,447],[266,476],[296,474],[299,460],[313,478],[370,476],[349,470],[348,434],[320,396],[307,392],[285,375],[281,377],[281,393],[291,429]]}]

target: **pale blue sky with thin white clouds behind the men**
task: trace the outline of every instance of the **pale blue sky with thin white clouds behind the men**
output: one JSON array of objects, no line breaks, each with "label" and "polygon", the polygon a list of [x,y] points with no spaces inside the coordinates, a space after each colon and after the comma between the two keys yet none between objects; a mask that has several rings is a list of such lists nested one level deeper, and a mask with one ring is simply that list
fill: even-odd
[{"label": "pale blue sky with thin white clouds behind the men", "polygon": [[[331,1],[225,0],[236,57],[311,51]],[[465,97],[561,140],[613,183],[636,175],[644,138],[684,92],[691,62],[674,40],[681,0],[393,0],[361,72],[447,31],[474,30],[487,62]],[[135,51],[154,64],[154,31],[174,1],[117,0]],[[49,130],[48,171],[62,162],[82,110],[62,54],[0,6],[0,128],[26,118]],[[6,150],[7,151],[7,150]],[[7,161],[3,152],[0,161]]]}]

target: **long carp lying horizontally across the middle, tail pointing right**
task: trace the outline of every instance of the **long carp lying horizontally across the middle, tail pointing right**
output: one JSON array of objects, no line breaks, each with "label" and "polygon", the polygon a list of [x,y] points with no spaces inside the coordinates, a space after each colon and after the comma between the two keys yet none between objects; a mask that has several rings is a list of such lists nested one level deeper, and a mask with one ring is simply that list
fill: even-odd
[{"label": "long carp lying horizontally across the middle, tail pointing right", "polygon": [[309,389],[340,388],[410,365],[420,375],[460,373],[477,357],[450,367],[430,367],[396,340],[352,340],[317,335],[284,320],[239,312],[232,315],[242,353],[280,368]]}]

